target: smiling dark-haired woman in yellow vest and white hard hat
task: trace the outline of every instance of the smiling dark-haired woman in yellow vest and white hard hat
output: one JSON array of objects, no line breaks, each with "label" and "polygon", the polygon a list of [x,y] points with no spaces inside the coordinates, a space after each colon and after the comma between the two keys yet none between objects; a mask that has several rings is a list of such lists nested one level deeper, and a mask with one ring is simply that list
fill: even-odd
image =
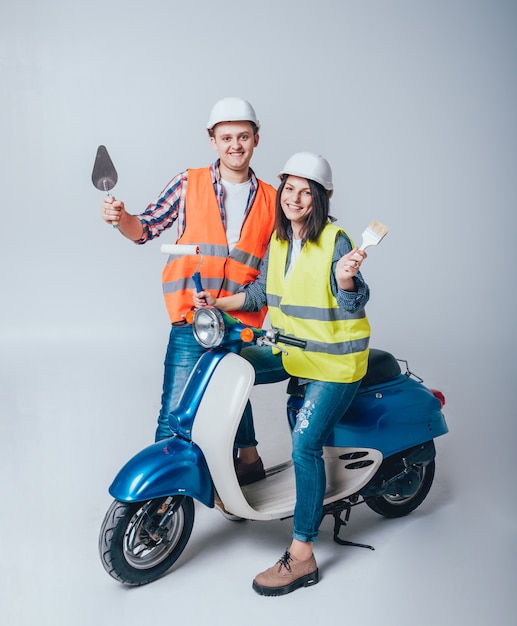
[{"label": "smiling dark-haired woman in yellow vest and white hard hat", "polygon": [[[310,152],[293,155],[279,174],[276,224],[256,282],[214,299],[194,296],[196,306],[259,310],[265,303],[273,326],[307,340],[304,350],[282,354],[285,370],[305,386],[292,431],[296,505],[292,542],[283,557],[258,574],[253,588],[277,596],[318,582],[313,554],[325,495],[323,444],[352,402],[366,373],[370,327],[364,312],[369,289],[359,268],[365,252],[329,218],[332,172]],[[265,358],[271,358],[266,356]]]}]

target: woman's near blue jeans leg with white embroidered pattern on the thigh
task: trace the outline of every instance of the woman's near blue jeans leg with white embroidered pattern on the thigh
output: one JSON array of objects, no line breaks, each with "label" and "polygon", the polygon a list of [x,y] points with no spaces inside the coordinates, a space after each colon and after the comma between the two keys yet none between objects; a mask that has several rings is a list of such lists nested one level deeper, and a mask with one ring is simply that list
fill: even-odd
[{"label": "woman's near blue jeans leg with white embroidered pattern on the thigh", "polygon": [[302,408],[292,431],[293,463],[296,478],[293,539],[311,542],[318,530],[325,498],[323,444],[350,406],[360,381],[307,384]]}]

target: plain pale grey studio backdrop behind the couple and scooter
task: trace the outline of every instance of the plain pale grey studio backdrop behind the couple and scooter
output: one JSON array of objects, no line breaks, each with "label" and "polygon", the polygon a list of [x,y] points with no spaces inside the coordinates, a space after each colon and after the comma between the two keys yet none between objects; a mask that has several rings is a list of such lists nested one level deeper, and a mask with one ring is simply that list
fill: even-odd
[{"label": "plain pale grey studio backdrop behind the couple and scooter", "polygon": [[[119,173],[115,195],[143,210],[175,173],[213,160],[204,127],[226,95],[257,111],[261,178],[276,184],[290,154],[319,152],[333,168],[338,223],[357,240],[371,219],[389,226],[363,267],[372,345],[408,359],[447,397],[451,432],[439,442],[436,489],[463,517],[447,516],[440,532],[452,518],[472,530],[475,518],[457,567],[477,571],[488,558],[492,587],[487,594],[488,580],[475,578],[472,616],[483,624],[496,611],[494,623],[509,623],[516,18],[511,0],[2,2],[0,454],[9,546],[0,593],[16,598],[6,623],[103,624],[89,613],[98,610],[92,588],[109,607],[102,615],[126,606],[129,596],[92,552],[107,485],[154,433],[168,334],[162,242],[136,247],[101,221],[91,170],[105,144]],[[58,531],[71,508],[74,527],[64,521]],[[92,562],[85,578],[74,579],[76,550]],[[453,552],[435,564],[437,576],[450,571]],[[170,600],[173,577],[148,602]],[[116,599],[104,597],[114,588]],[[67,597],[81,617],[61,622]],[[463,623],[478,623],[466,618],[468,600],[461,606]]]}]

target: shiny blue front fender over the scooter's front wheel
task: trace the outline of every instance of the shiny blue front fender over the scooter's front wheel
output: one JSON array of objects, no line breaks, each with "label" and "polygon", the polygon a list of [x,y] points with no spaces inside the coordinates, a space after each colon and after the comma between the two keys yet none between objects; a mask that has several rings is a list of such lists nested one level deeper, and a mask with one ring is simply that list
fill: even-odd
[{"label": "shiny blue front fender over the scooter's front wheel", "polygon": [[182,495],[214,506],[212,479],[203,453],[196,444],[179,437],[138,452],[119,471],[109,492],[120,502]]}]

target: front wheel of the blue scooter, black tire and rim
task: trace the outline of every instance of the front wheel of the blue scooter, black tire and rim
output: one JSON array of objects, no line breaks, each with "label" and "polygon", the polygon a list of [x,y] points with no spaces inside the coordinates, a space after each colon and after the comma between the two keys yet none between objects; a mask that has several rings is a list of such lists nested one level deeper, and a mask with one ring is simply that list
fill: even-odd
[{"label": "front wheel of the blue scooter, black tire and rim", "polygon": [[99,535],[104,569],[126,585],[145,585],[167,572],[194,525],[194,502],[174,496],[126,504],[115,500]]}]

